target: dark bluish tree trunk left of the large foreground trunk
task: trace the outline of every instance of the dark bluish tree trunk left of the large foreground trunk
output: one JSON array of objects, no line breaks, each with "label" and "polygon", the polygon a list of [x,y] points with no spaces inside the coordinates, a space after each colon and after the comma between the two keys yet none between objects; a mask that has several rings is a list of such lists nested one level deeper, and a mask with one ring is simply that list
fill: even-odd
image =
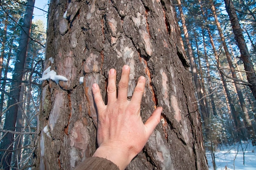
[{"label": "dark bluish tree trunk left of the large foreground trunk", "polygon": [[[17,101],[20,98],[20,85],[22,81],[24,66],[26,62],[27,56],[27,46],[29,42],[29,33],[31,27],[31,20],[33,16],[33,9],[34,9],[35,0],[28,0],[27,1],[27,8],[26,13],[24,16],[24,22],[22,25],[22,31],[20,34],[20,41],[18,47],[18,54],[17,54],[17,61],[14,66],[13,71],[13,81],[11,83],[10,95],[12,96],[8,101],[9,110],[6,112],[5,115],[5,122],[4,122],[4,130],[12,130],[15,131],[15,124],[17,119],[18,107],[20,104]],[[21,104],[22,107],[22,104]],[[7,133],[4,138],[2,139],[2,143],[0,145],[0,158],[2,163],[2,169],[9,170],[9,165],[11,163],[11,155],[13,150],[13,137],[14,135],[11,133]],[[4,152],[4,150],[8,150]]]}]

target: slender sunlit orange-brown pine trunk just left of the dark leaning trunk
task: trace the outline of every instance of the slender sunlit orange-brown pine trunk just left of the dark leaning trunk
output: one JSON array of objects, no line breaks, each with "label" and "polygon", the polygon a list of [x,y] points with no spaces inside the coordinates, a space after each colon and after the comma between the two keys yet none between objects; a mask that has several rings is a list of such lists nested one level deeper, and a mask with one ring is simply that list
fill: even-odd
[{"label": "slender sunlit orange-brown pine trunk just left of the dark leaning trunk", "polygon": [[[243,120],[244,120],[244,123],[245,123],[245,127],[246,127],[248,133],[250,134],[250,139],[252,140],[252,144],[256,145],[256,134],[255,134],[255,131],[253,130],[253,127],[252,127],[252,122],[251,122],[250,117],[249,117],[249,113],[248,113],[248,110],[247,110],[247,107],[246,107],[245,100],[243,98],[242,91],[240,89],[240,85],[238,84],[239,82],[238,82],[238,79],[237,79],[237,76],[236,76],[236,72],[234,71],[234,65],[232,63],[230,53],[229,53],[229,51],[227,49],[226,41],[225,41],[224,35],[222,33],[221,27],[220,27],[220,22],[218,21],[218,18],[217,18],[214,5],[211,6],[211,10],[213,12],[213,16],[214,16],[215,21],[216,21],[216,25],[217,25],[217,28],[218,28],[218,31],[219,31],[219,34],[220,34],[220,39],[221,39],[223,48],[225,50],[227,61],[229,63],[229,67],[231,69],[230,71],[231,71],[232,77],[234,79],[234,83],[235,83],[236,91],[237,91],[237,94],[238,94],[239,102],[240,102],[240,105],[241,105],[242,110],[243,110]],[[248,62],[249,62],[249,60],[248,60]],[[245,61],[244,61],[244,63],[245,63]],[[254,73],[254,78],[255,78],[255,73]],[[256,81],[255,81],[255,83],[256,83]]]}]

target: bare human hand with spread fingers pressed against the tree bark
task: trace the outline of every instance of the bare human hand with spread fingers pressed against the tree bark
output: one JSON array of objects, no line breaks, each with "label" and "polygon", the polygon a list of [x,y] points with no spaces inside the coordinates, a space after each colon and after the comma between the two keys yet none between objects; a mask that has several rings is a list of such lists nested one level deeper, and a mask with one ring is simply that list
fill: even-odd
[{"label": "bare human hand with spread fingers pressed against the tree bark", "polygon": [[140,116],[141,98],[146,78],[141,76],[127,100],[130,67],[124,65],[116,89],[116,70],[108,73],[108,104],[105,105],[97,84],[92,85],[94,102],[97,107],[97,142],[99,148],[93,157],[106,158],[124,170],[132,159],[143,149],[155,127],[160,122],[162,107],[157,107],[144,124]]}]

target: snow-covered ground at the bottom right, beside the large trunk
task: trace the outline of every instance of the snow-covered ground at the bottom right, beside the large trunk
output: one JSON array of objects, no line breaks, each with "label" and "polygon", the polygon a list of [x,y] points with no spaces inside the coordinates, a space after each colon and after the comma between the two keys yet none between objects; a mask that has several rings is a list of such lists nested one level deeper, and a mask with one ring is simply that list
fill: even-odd
[{"label": "snow-covered ground at the bottom right, beside the large trunk", "polygon": [[[243,165],[243,152],[245,152],[245,165]],[[206,155],[209,170],[213,170],[211,152],[207,151]],[[215,161],[217,170],[256,170],[256,146],[248,142],[242,142],[242,147],[240,143],[220,146],[215,152]]]}]

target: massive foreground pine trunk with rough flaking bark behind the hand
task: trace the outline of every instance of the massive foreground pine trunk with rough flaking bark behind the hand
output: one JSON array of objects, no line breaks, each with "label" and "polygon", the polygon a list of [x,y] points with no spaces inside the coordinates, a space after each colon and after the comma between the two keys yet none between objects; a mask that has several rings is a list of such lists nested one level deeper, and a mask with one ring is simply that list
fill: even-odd
[{"label": "massive foreground pine trunk with rough flaking bark behind the hand", "polygon": [[[64,18],[63,18],[64,16]],[[91,86],[106,98],[110,68],[130,65],[128,97],[146,77],[141,117],[162,106],[161,123],[127,170],[206,170],[189,64],[169,0],[52,0],[45,69],[68,81],[43,82],[36,169],[73,169],[97,148]],[[54,58],[51,62],[49,58]],[[83,84],[79,84],[79,78]]]}]

